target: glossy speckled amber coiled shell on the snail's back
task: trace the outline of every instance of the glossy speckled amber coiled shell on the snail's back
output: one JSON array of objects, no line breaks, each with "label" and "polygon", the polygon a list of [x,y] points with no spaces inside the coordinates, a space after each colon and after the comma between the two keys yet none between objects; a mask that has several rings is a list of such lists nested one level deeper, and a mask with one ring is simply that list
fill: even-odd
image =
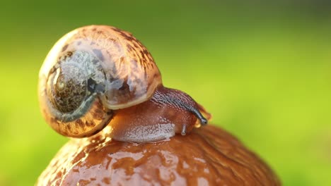
[{"label": "glossy speckled amber coiled shell on the snail's back", "polygon": [[124,109],[151,98],[162,85],[149,51],[129,32],[105,25],[64,35],[39,74],[42,114],[62,135],[98,132]]}]

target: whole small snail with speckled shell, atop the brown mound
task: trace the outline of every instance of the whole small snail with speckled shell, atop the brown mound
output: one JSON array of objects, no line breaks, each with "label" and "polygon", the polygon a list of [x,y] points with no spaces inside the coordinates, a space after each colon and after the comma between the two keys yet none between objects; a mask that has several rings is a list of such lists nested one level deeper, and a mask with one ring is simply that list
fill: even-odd
[{"label": "whole small snail with speckled shell, atop the brown mound", "polygon": [[129,32],[80,27],[53,46],[40,69],[40,109],[67,137],[88,137],[110,125],[124,142],[185,135],[210,114],[188,94],[163,87],[149,51]]}]

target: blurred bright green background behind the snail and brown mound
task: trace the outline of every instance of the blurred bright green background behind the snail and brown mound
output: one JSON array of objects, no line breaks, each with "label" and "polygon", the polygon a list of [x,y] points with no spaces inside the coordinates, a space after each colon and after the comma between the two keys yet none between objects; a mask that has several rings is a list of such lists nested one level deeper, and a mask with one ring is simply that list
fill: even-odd
[{"label": "blurred bright green background behind the snail and brown mound", "polygon": [[1,1],[0,185],[33,185],[67,141],[40,115],[37,74],[66,32],[129,30],[168,87],[210,111],[284,185],[331,185],[327,1]]}]

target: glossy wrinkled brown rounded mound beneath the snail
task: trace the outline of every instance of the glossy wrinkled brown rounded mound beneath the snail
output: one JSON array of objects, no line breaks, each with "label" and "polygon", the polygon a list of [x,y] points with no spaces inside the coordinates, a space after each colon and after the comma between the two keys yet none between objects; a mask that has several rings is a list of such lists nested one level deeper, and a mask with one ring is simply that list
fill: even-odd
[{"label": "glossy wrinkled brown rounded mound beneath the snail", "polygon": [[103,133],[71,140],[37,185],[281,185],[257,155],[208,125],[149,143],[117,142]]}]

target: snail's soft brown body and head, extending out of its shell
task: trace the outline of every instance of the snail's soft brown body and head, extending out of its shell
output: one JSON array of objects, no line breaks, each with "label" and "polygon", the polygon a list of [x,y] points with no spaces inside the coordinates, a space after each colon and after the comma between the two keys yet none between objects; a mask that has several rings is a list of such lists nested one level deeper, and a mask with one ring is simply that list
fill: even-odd
[{"label": "snail's soft brown body and head, extending out of its shell", "polygon": [[114,111],[111,137],[121,142],[165,140],[206,125],[204,117],[210,119],[211,115],[188,94],[161,86],[148,101]]}]

